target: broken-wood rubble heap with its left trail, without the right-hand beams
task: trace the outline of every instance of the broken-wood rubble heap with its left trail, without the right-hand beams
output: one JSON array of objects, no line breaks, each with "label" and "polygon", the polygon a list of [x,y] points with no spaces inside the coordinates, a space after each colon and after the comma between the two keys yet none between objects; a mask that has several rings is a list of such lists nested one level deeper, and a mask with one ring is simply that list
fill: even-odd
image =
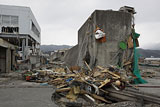
[{"label": "broken-wood rubble heap with its left trail, without the right-hand beams", "polygon": [[108,96],[107,89],[123,90],[127,85],[132,86],[130,83],[133,83],[134,76],[124,69],[112,65],[91,69],[85,61],[84,64],[84,68],[63,66],[27,71],[22,76],[27,81],[56,86],[52,100],[57,104],[71,106],[111,104],[117,101]]}]

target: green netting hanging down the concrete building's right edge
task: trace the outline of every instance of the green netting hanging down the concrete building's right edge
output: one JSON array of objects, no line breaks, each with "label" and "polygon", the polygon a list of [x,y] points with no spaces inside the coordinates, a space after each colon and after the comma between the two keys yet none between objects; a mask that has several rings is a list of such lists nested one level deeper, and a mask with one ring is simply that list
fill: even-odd
[{"label": "green netting hanging down the concrete building's right edge", "polygon": [[144,84],[147,83],[147,81],[143,80],[140,71],[138,68],[138,54],[136,49],[136,39],[140,36],[140,34],[135,33],[133,34],[133,46],[134,46],[134,65],[133,65],[133,74],[137,77],[134,79],[135,84]]}]

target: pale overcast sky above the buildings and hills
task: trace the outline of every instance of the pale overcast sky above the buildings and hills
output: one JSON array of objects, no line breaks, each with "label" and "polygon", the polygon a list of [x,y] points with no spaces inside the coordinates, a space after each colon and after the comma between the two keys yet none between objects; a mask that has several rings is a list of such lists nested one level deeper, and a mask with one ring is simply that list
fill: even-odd
[{"label": "pale overcast sky above the buildings and hills", "polygon": [[133,6],[140,47],[160,43],[160,0],[0,0],[30,7],[41,27],[41,44],[76,45],[77,31],[95,9]]}]

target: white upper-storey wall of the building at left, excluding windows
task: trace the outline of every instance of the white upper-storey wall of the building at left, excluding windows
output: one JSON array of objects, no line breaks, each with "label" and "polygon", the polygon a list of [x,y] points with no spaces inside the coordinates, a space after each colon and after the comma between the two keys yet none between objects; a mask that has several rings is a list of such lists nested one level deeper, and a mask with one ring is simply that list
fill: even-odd
[{"label": "white upper-storey wall of the building at left, excluding windows", "polygon": [[[0,5],[0,15],[13,15],[18,16],[19,18],[19,34],[27,34],[34,38],[38,43],[41,41],[41,35],[38,37],[31,30],[31,23],[33,22],[38,31],[41,34],[41,29],[36,21],[31,9],[29,7],[21,6],[9,6],[9,5]],[[1,26],[1,25],[0,25]],[[1,33],[1,30],[0,30]]]}]

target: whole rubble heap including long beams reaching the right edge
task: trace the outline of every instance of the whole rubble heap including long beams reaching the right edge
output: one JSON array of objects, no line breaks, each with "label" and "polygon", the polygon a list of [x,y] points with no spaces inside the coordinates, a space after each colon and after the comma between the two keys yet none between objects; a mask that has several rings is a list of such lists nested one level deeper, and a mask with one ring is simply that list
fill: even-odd
[{"label": "whole rubble heap including long beams reaching the right edge", "polygon": [[[135,91],[138,87],[132,83],[135,83],[137,77],[131,71],[113,65],[91,69],[85,61],[84,65],[68,68],[57,63],[40,70],[26,71],[22,76],[26,81],[56,87],[52,101],[62,107],[105,107],[124,101],[137,102],[139,98],[147,103],[159,102],[159,98],[153,100],[152,96],[146,97],[146,94]],[[127,91],[128,88],[134,91]],[[141,101],[137,104],[141,104]]]}]

